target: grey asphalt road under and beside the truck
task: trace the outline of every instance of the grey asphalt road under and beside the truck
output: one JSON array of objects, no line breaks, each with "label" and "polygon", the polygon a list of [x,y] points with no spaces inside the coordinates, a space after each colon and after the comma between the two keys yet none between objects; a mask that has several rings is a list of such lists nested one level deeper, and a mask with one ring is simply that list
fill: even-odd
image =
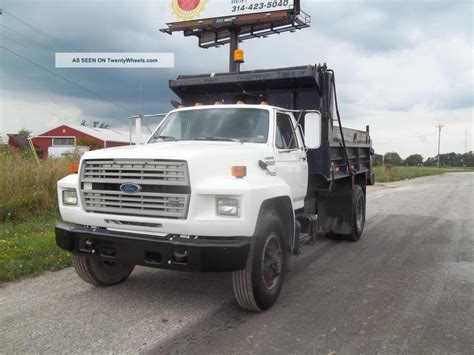
[{"label": "grey asphalt road under and beside the truck", "polygon": [[307,247],[267,312],[229,275],[73,269],[0,288],[1,353],[474,353],[474,173],[369,188],[357,243]]}]

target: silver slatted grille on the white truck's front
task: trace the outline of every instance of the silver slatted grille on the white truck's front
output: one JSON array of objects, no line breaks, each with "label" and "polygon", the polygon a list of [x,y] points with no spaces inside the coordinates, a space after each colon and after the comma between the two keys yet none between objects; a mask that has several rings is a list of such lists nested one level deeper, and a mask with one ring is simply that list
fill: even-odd
[{"label": "silver slatted grille on the white truck's front", "polygon": [[[139,184],[142,191],[122,192],[123,183]],[[185,219],[190,194],[183,193],[189,192],[183,186],[189,186],[184,161],[85,160],[81,167],[81,199],[87,212]],[[164,187],[171,192],[159,192]]]}]

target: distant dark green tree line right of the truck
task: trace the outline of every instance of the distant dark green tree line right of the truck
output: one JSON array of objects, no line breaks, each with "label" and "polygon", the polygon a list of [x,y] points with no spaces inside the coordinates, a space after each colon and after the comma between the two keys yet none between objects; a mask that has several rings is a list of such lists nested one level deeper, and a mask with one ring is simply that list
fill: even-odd
[{"label": "distant dark green tree line right of the truck", "polygon": [[[474,167],[474,154],[468,152],[460,153],[446,153],[440,154],[440,163],[442,166],[454,167]],[[402,159],[397,152],[388,152],[384,155],[375,154],[375,162],[377,165],[408,165],[408,166],[436,166],[438,164],[438,155],[424,159],[421,154],[412,154]]]}]

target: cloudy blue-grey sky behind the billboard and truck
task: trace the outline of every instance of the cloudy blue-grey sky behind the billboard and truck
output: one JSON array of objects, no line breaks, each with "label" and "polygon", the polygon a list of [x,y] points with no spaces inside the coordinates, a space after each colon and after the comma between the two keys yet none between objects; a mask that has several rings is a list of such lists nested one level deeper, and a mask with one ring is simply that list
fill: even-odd
[{"label": "cloudy blue-grey sky behind the billboard and truck", "polygon": [[[129,113],[169,110],[168,80],[226,71],[227,48],[158,31],[169,1],[3,0],[1,45],[106,97],[79,90],[0,49],[0,131],[39,134],[60,123],[125,127]],[[379,153],[463,152],[473,135],[471,1],[308,1],[310,29],[250,40],[243,69],[326,62],[336,72],[345,125],[371,126]],[[174,52],[174,69],[56,69],[56,52]]]}]

